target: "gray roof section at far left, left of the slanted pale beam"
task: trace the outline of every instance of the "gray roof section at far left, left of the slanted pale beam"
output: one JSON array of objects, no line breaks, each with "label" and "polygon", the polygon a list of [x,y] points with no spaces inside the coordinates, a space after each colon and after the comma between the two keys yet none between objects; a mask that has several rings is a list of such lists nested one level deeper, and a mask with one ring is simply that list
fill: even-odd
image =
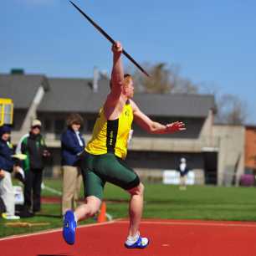
[{"label": "gray roof section at far left, left of the slanted pale beam", "polygon": [[11,98],[14,108],[28,109],[40,85],[48,89],[44,75],[0,74],[0,98]]}]

